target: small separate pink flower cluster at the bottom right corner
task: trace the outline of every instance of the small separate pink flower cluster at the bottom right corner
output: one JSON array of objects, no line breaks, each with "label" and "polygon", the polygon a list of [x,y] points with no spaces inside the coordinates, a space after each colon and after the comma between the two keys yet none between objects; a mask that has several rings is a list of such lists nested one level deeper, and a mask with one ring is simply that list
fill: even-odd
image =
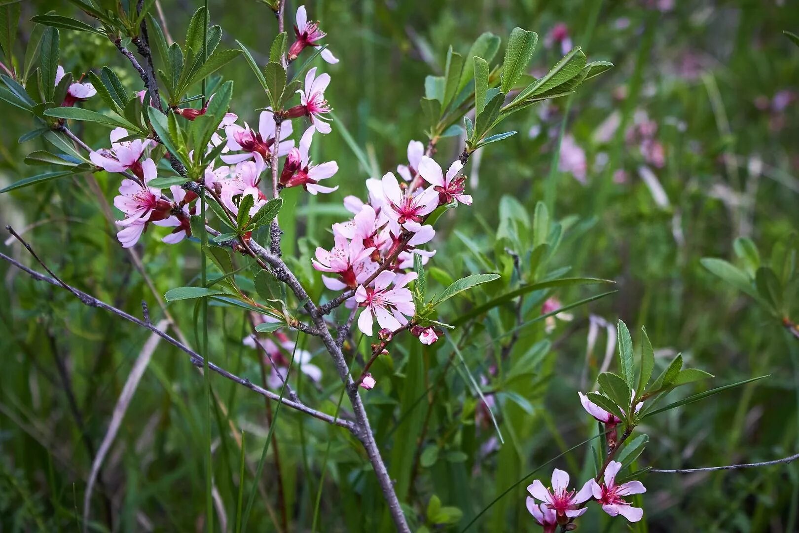
[{"label": "small separate pink flower cluster at the bottom right corner", "polygon": [[[602,505],[602,510],[610,516],[622,515],[630,522],[638,522],[643,516],[640,507],[633,507],[626,496],[642,494],[646,487],[640,481],[616,483],[616,475],[622,469],[622,463],[610,459],[617,449],[616,426],[622,423],[618,416],[600,408],[591,402],[582,392],[578,392],[582,408],[599,422],[605,425],[606,438],[611,455],[603,465],[597,479],[589,479],[583,483],[579,491],[569,490],[569,474],[555,468],[552,472],[551,485],[545,487],[539,480],[527,486],[527,511],[530,511],[535,521],[543,527],[545,533],[553,533],[559,526],[572,525],[574,519],[587,511],[586,504],[596,501]],[[633,399],[635,392],[633,392]],[[642,408],[643,402],[635,406],[635,412]],[[623,412],[622,412],[623,414]],[[602,478],[602,481],[598,479]]]}]

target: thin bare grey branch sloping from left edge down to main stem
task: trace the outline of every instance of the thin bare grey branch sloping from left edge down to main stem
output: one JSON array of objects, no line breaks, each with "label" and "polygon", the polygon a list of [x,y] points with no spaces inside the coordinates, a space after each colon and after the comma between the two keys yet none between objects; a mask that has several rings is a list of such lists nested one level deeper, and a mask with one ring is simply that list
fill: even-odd
[{"label": "thin bare grey branch sloping from left edge down to main stem", "polygon": [[[24,245],[26,245],[26,248],[30,248],[30,245],[28,245],[25,241],[22,241],[22,242],[23,242]],[[81,300],[81,303],[83,303],[85,305],[88,305],[89,307],[97,307],[97,308],[105,309],[106,311],[113,312],[113,314],[115,314],[117,316],[120,316],[121,318],[124,318],[125,320],[129,320],[130,322],[133,322],[133,324],[138,324],[142,328],[149,329],[151,332],[155,333],[156,335],[160,336],[162,339],[164,339],[167,342],[169,342],[169,344],[173,344],[173,346],[176,346],[177,348],[181,349],[181,351],[189,354],[189,356],[191,357],[192,363],[195,366],[200,366],[200,367],[203,366],[204,361],[203,361],[202,357],[199,354],[197,354],[197,352],[194,352],[191,348],[189,348],[185,344],[182,344],[179,340],[173,338],[172,336],[169,336],[167,333],[159,331],[155,326],[153,326],[153,324],[148,324],[144,320],[139,320],[135,316],[132,316],[129,313],[122,311],[121,309],[117,309],[117,308],[113,307],[113,305],[109,305],[109,304],[106,304],[105,302],[103,302],[101,300],[97,300],[97,298],[95,298],[94,296],[86,294],[85,292],[79,290],[78,288],[74,288],[74,287],[70,286],[69,284],[64,283],[62,280],[58,279],[58,277],[55,277],[53,272],[50,272],[50,274],[52,274],[54,277],[46,276],[46,275],[42,274],[41,272],[36,272],[35,270],[33,270],[31,268],[28,268],[25,265],[22,265],[22,263],[20,263],[18,261],[15,261],[11,257],[6,256],[6,254],[4,254],[4,253],[0,253],[0,259],[2,259],[4,261],[8,261],[11,265],[14,265],[15,267],[21,269],[23,272],[26,272],[28,275],[33,277],[34,280],[46,281],[47,283],[54,284],[54,285],[60,285],[63,288],[66,288],[66,290],[72,292],[74,294],[74,296],[76,296],[78,298],[78,300]],[[41,263],[41,261],[39,261],[39,263],[46,270],[49,271],[49,269],[46,267],[46,265],[43,265]],[[239,376],[236,376],[235,374],[233,374],[231,372],[228,372],[224,368],[221,368],[221,367],[217,366],[217,364],[213,364],[213,363],[209,362],[209,368],[211,368],[211,370],[213,372],[217,372],[217,374],[219,374],[220,376],[223,376],[223,377],[225,377],[225,378],[227,378],[227,379],[229,379],[231,381],[234,381],[237,384],[243,385],[244,387],[250,389],[251,391],[257,392],[261,396],[266,396],[269,400],[280,401],[280,396],[276,395],[274,392],[271,392],[271,391],[268,391],[268,390],[266,390],[264,388],[261,388],[261,387],[257,386],[256,384],[252,384],[252,382],[250,380],[248,380],[246,378],[241,378]],[[347,428],[347,429],[349,429],[351,431],[354,431],[354,424],[351,421],[349,421],[349,420],[341,420],[341,419],[336,420],[336,419],[334,419],[334,417],[332,417],[332,416],[330,416],[330,415],[328,415],[328,414],[326,414],[324,412],[316,411],[316,409],[309,408],[309,407],[307,407],[304,404],[297,404],[295,402],[292,402],[291,400],[286,400],[286,399],[283,399],[282,401],[289,408],[296,409],[297,411],[300,411],[300,412],[304,412],[305,414],[313,416],[314,418],[316,418],[318,420],[322,420],[323,422],[327,422],[328,424],[336,424],[338,426],[341,426],[342,428]]]}]

